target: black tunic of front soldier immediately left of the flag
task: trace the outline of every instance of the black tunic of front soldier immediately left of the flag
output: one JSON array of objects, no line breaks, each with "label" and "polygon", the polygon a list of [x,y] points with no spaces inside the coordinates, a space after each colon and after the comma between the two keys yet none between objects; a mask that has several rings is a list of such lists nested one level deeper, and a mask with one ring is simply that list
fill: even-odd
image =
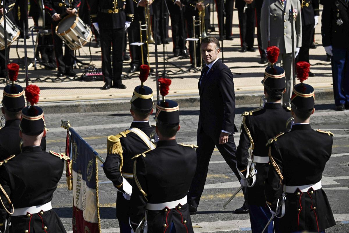
[{"label": "black tunic of front soldier immediately left of the flag", "polygon": [[[28,146],[23,148],[21,154],[2,163],[0,183],[12,201],[14,209],[43,205],[51,202],[63,168],[64,160],[61,157],[42,151],[40,146]],[[9,210],[10,206],[1,191],[0,196]],[[0,213],[4,223],[7,212],[3,206],[0,207]],[[61,220],[52,209],[11,216],[11,223],[11,233],[66,232]]]}]

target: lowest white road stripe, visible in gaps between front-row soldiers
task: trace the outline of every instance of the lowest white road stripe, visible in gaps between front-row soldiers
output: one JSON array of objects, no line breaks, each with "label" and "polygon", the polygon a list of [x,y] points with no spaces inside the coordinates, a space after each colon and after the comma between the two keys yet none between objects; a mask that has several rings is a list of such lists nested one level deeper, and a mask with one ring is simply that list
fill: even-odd
[{"label": "lowest white road stripe, visible in gaps between front-row soldiers", "polygon": [[[349,214],[333,214],[336,223],[348,224]],[[230,220],[230,221],[213,221],[203,223],[193,223],[195,233],[209,233],[222,231],[251,231],[249,219]],[[119,228],[102,229],[102,233],[119,233]],[[67,233],[73,233],[68,231]]]}]

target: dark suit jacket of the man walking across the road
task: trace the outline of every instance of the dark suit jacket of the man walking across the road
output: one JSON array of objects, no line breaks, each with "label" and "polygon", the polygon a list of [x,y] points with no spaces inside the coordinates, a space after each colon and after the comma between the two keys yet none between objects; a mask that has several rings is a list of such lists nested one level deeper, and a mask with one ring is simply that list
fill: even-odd
[{"label": "dark suit jacket of the man walking across the road", "polygon": [[201,77],[202,74],[198,84],[200,94],[198,133],[202,129],[206,134],[219,137],[222,130],[235,132],[235,92],[230,69],[218,59],[200,85]]}]

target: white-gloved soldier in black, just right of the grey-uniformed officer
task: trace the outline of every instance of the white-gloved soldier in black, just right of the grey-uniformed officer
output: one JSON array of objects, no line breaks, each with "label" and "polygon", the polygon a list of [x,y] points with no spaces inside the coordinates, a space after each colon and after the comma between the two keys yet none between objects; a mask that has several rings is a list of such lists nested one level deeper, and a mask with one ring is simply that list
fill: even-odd
[{"label": "white-gloved soldier in black, just right of the grey-uniformed officer", "polygon": [[[301,2],[300,7],[302,10],[302,47],[299,49],[297,56],[298,61],[306,61],[309,63],[309,49],[313,42],[314,28],[318,24],[318,18],[320,15],[319,0],[299,0]],[[314,77],[311,71],[309,76]]]}]

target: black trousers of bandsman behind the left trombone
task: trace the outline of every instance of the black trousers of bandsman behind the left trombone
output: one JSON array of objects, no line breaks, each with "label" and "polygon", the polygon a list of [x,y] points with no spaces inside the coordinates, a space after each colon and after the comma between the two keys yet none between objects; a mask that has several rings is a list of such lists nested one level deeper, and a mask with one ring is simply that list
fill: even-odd
[{"label": "black trousers of bandsman behind the left trombone", "polygon": [[[146,22],[142,20],[142,24],[145,24]],[[128,41],[129,41],[129,47],[130,47],[130,55],[131,55],[131,67],[136,66],[139,67],[142,65],[142,54],[141,54],[141,46],[143,46],[143,64],[148,65],[148,48],[147,44],[144,43],[141,46],[137,45],[131,45],[131,43],[134,42],[140,42],[140,31],[139,31],[139,20],[133,19],[130,27],[127,29],[128,32]],[[146,31],[142,31],[142,40],[146,41],[147,35]]]}]

